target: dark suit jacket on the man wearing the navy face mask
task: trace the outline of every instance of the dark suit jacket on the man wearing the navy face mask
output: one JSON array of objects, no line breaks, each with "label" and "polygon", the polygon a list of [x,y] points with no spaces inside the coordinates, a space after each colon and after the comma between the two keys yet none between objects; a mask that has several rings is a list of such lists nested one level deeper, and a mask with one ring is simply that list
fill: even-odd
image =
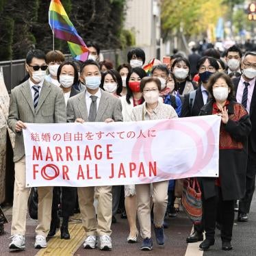
[{"label": "dark suit jacket on the man wearing the navy face mask", "polygon": [[201,108],[203,107],[203,94],[201,87],[196,89],[196,98],[194,99],[194,105],[190,110],[190,95],[185,94],[184,101],[181,108],[181,117],[198,116]]}]

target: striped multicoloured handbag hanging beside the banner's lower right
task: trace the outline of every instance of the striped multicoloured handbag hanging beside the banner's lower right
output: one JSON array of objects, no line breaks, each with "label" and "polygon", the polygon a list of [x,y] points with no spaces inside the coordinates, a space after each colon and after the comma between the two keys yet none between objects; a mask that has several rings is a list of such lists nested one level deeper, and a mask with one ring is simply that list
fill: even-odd
[{"label": "striped multicoloured handbag hanging beside the banner's lower right", "polygon": [[199,181],[196,178],[188,178],[183,181],[183,192],[181,204],[188,218],[194,225],[199,225],[202,221],[202,193]]}]

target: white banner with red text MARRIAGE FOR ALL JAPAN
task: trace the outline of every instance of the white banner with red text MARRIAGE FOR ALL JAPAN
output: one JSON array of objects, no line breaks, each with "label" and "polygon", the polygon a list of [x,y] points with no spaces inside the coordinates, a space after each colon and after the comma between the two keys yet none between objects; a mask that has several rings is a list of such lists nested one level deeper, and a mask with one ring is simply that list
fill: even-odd
[{"label": "white banner with red text MARRIAGE FOR ALL JAPAN", "polygon": [[27,124],[27,187],[218,177],[219,132],[219,116]]}]

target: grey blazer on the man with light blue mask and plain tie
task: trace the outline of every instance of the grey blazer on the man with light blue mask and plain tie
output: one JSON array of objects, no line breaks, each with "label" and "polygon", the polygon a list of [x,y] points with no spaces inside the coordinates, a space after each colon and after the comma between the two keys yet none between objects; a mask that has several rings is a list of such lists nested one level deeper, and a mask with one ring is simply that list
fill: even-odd
[{"label": "grey blazer on the man with light blue mask and plain tie", "polygon": [[[101,89],[100,89],[101,90]],[[86,92],[81,92],[68,99],[66,105],[66,115],[68,123],[74,123],[77,118],[82,118],[88,122],[88,110],[86,108]],[[122,105],[120,99],[112,94],[101,90],[101,99],[95,122],[104,122],[107,118],[114,121],[123,121]]]}]

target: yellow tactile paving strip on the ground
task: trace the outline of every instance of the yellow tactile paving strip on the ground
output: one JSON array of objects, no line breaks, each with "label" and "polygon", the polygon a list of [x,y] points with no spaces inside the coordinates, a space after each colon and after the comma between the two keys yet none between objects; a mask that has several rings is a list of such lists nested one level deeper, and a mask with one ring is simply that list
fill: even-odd
[{"label": "yellow tactile paving strip on the ground", "polygon": [[[80,214],[73,216],[75,219],[81,218]],[[81,222],[68,224],[68,231],[71,234],[70,240],[60,239],[60,231],[47,242],[47,248],[40,249],[36,256],[69,256],[74,255],[79,246],[85,240],[84,228]]]}]

